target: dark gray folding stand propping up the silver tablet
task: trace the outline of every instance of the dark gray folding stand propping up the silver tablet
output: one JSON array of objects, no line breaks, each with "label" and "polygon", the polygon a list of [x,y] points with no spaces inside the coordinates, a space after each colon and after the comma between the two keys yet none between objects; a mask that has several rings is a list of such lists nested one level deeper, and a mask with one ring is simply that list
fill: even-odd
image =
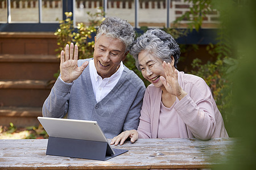
[{"label": "dark gray folding stand propping up the silver tablet", "polygon": [[49,137],[46,155],[107,160],[113,157],[106,155],[107,146],[108,142]]}]

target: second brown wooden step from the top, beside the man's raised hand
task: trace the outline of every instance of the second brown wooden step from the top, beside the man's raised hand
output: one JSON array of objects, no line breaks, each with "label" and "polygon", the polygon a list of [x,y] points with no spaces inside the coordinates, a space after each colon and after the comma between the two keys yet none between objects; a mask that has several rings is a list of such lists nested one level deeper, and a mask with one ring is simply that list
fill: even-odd
[{"label": "second brown wooden step from the top, beside the man's raised hand", "polygon": [[0,79],[52,80],[59,67],[55,55],[0,54]]}]

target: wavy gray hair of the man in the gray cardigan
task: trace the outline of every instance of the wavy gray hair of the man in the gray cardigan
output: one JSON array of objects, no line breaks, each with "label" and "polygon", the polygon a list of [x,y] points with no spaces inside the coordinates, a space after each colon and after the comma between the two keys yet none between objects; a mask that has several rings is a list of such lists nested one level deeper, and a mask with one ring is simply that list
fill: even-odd
[{"label": "wavy gray hair of the man in the gray cardigan", "polygon": [[108,17],[101,23],[97,31],[96,40],[103,34],[107,37],[121,40],[126,46],[125,52],[130,50],[135,37],[135,31],[131,24],[127,20],[117,17]]}]

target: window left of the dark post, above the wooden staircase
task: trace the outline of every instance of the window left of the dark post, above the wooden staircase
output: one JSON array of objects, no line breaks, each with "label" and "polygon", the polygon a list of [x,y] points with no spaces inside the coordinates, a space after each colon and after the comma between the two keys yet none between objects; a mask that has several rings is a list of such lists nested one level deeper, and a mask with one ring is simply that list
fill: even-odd
[{"label": "window left of the dark post, above the wooden staircase", "polygon": [[58,23],[62,13],[61,0],[0,0],[1,23]]}]

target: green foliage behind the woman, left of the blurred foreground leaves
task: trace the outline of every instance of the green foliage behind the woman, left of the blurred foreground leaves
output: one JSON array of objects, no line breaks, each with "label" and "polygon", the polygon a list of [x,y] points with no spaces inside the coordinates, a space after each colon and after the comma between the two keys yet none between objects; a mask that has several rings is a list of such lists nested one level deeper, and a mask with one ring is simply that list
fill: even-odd
[{"label": "green foliage behind the woman, left of the blurred foreground leaves", "polygon": [[[187,35],[188,31],[196,29],[199,31],[201,25],[203,24],[204,18],[207,14],[211,14],[214,11],[218,11],[220,14],[219,25],[217,29],[217,44],[209,44],[207,50],[209,56],[215,56],[216,60],[213,62],[208,61],[207,63],[202,63],[201,59],[193,59],[191,74],[200,76],[207,82],[208,86],[212,90],[214,100],[216,101],[217,107],[222,113],[226,127],[229,127],[232,123],[233,112],[230,110],[232,107],[231,97],[232,97],[232,86],[233,82],[230,79],[230,75],[236,71],[238,67],[238,62],[234,56],[234,42],[230,39],[230,32],[228,29],[228,24],[230,22],[230,13],[226,11],[226,8],[222,8],[220,1],[211,0],[185,0],[190,4],[189,11],[185,12],[180,18],[175,20],[174,28],[168,28],[167,32],[171,35],[183,36]],[[233,1],[234,5],[236,1]],[[181,21],[186,21],[188,29],[183,32],[175,32],[175,29],[179,27]],[[184,45],[181,45],[181,52],[186,49],[182,49]],[[194,45],[197,48],[197,45]],[[182,55],[182,54],[181,54]],[[227,128],[229,135],[232,136],[234,131]]]}]

